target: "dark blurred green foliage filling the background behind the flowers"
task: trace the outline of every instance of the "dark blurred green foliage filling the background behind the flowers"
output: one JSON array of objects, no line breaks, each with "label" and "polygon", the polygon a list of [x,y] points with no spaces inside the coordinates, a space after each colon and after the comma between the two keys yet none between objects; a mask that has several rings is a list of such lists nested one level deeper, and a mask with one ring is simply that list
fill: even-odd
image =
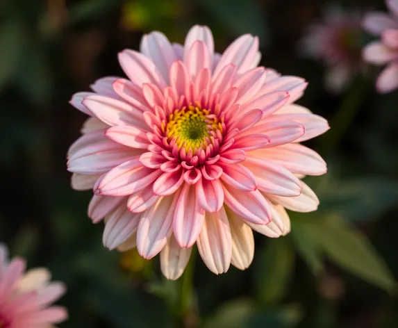
[{"label": "dark blurred green foliage filling the background behind the flowers", "polygon": [[[338,1],[332,1],[337,3]],[[381,8],[383,1],[340,1]],[[30,267],[65,281],[60,327],[398,327],[398,92],[377,95],[376,69],[342,95],[324,90],[324,67],[297,56],[318,0],[1,0],[0,240]],[[143,33],[183,42],[193,24],[213,30],[216,49],[242,33],[260,36],[262,65],[304,76],[299,104],[331,131],[308,142],[329,173],[306,179],[320,197],[315,213],[291,213],[292,233],[256,235],[249,270],[217,277],[197,259],[194,272],[165,281],[158,258],[108,252],[101,224],[86,216],[90,192],[69,187],[67,147],[85,117],[71,95],[97,78],[122,75],[117,52]],[[369,39],[365,36],[364,40]],[[365,42],[365,41],[364,41]],[[190,295],[186,281],[194,274]],[[187,291],[188,288],[188,291]]]}]

